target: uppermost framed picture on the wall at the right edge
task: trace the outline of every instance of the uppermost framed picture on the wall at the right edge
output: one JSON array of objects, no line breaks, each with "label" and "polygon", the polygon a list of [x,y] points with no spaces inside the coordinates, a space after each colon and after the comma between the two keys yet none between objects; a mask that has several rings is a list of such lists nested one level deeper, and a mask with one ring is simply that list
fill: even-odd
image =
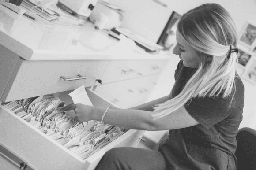
[{"label": "uppermost framed picture on the wall at the right edge", "polygon": [[249,49],[252,48],[252,44],[256,41],[256,24],[252,22],[246,22],[243,28],[239,41]]}]

